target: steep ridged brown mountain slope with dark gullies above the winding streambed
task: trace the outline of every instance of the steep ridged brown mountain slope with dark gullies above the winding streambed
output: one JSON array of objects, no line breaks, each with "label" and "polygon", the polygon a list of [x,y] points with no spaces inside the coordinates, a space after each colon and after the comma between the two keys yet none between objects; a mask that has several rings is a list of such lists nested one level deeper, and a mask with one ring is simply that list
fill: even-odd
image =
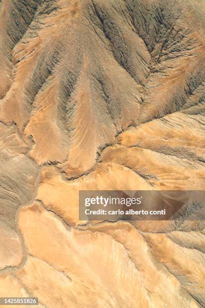
[{"label": "steep ridged brown mountain slope with dark gullies above the winding streambed", "polygon": [[33,138],[38,164],[77,176],[129,125],[201,111],[196,1],[5,1],[1,22],[1,118]]}]

